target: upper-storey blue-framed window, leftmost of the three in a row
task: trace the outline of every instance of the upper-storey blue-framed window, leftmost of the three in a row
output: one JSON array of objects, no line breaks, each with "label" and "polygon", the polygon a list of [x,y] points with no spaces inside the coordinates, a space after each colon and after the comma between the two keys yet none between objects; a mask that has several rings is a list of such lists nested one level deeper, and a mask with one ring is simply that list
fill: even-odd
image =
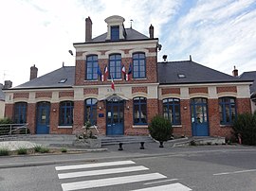
[{"label": "upper-storey blue-framed window, leftmost of the three in a row", "polygon": [[86,58],[86,80],[98,79],[98,56],[90,55]]}]

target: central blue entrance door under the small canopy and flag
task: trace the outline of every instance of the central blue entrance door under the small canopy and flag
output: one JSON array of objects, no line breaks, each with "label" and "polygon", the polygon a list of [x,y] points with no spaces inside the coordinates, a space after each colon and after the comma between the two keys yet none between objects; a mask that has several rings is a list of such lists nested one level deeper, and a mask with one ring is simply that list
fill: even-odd
[{"label": "central blue entrance door under the small canopy and flag", "polygon": [[123,100],[113,97],[106,103],[106,134],[123,135]]}]

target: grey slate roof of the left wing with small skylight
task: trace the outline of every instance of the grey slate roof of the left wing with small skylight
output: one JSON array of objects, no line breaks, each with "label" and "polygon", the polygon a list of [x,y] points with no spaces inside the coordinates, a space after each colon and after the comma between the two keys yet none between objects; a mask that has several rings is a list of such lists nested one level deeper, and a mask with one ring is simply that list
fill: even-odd
[{"label": "grey slate roof of the left wing with small skylight", "polygon": [[[61,79],[65,79],[60,83]],[[72,87],[75,83],[75,66],[63,66],[42,77],[34,78],[26,83],[18,85],[13,89],[33,89],[33,88],[65,88]]]}]

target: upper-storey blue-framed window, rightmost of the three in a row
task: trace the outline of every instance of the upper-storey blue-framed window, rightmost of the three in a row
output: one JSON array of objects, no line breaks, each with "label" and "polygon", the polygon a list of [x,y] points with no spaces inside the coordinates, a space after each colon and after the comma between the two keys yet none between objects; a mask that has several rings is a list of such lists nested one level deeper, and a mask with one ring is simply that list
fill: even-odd
[{"label": "upper-storey blue-framed window, rightmost of the three in a row", "polygon": [[146,58],[144,53],[133,54],[133,78],[146,78]]}]

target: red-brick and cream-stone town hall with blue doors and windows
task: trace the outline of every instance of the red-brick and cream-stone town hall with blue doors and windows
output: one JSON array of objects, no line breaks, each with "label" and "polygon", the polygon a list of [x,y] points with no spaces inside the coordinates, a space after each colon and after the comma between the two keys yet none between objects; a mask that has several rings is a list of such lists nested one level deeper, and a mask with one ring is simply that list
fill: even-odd
[{"label": "red-brick and cream-stone town hall with blue doors and windows", "polygon": [[151,119],[169,119],[175,135],[230,136],[238,113],[251,113],[250,79],[189,61],[157,61],[154,37],[125,28],[124,18],[105,19],[106,33],[74,43],[75,66],[63,66],[5,90],[5,115],[31,133],[76,134],[90,121],[100,135],[147,135]]}]

